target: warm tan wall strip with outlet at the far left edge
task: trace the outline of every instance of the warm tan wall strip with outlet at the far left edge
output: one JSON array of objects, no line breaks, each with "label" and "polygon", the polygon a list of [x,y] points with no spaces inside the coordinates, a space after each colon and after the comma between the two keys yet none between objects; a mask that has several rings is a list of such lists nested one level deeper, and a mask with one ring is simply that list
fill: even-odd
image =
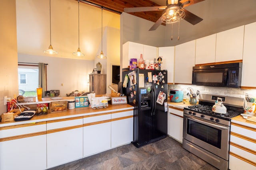
[{"label": "warm tan wall strip with outlet at the far left edge", "polygon": [[[18,95],[18,57],[15,0],[0,5],[0,115],[7,111],[4,96]],[[3,26],[4,25],[4,26]]]}]

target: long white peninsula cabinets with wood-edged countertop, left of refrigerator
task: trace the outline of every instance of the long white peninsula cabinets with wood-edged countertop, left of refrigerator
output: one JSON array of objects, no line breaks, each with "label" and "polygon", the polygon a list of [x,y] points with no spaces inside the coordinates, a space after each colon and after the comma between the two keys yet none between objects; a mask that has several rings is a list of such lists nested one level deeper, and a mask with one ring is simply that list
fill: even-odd
[{"label": "long white peninsula cabinets with wood-edged countertop, left of refrigerator", "polygon": [[133,109],[128,104],[79,107],[1,122],[0,169],[48,169],[128,144],[133,140]]}]

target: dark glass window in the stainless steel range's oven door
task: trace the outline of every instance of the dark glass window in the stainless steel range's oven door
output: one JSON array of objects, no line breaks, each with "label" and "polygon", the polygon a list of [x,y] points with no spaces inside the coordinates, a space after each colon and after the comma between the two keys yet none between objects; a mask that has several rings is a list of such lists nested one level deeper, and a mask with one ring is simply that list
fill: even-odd
[{"label": "dark glass window in the stainless steel range's oven door", "polygon": [[221,130],[187,119],[187,134],[220,149]]}]

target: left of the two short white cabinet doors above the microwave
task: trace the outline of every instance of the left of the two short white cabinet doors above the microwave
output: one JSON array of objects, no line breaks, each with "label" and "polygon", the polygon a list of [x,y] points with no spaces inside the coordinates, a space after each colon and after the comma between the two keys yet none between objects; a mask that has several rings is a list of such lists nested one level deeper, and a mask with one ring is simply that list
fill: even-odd
[{"label": "left of the two short white cabinet doors above the microwave", "polygon": [[195,64],[215,63],[216,34],[196,39]]}]

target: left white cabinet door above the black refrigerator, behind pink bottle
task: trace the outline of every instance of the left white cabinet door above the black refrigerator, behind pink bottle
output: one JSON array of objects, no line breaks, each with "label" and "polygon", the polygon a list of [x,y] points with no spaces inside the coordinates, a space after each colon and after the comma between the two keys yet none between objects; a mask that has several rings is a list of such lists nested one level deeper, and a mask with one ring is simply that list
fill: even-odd
[{"label": "left white cabinet door above the black refrigerator, behind pink bottle", "polygon": [[[140,54],[143,54],[144,45],[134,42],[126,42],[123,44],[122,68],[127,68],[130,64],[130,59],[140,59]],[[144,57],[144,56],[143,56]]]}]

